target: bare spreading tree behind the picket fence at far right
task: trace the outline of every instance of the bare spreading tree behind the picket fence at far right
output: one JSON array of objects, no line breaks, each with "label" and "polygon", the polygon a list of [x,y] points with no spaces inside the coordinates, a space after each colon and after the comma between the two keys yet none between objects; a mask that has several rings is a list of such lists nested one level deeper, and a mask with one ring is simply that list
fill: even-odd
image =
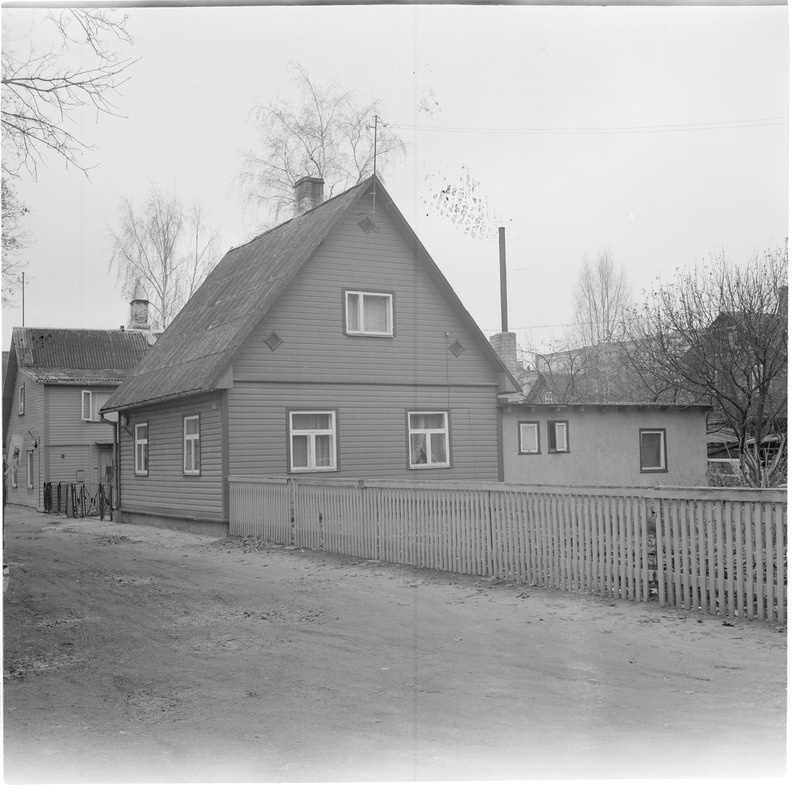
[{"label": "bare spreading tree behind the picket fence at far right", "polygon": [[742,473],[784,477],[788,376],[788,251],[737,265],[724,254],[659,285],[627,320],[630,364],[643,384],[710,401],[736,435]]}]

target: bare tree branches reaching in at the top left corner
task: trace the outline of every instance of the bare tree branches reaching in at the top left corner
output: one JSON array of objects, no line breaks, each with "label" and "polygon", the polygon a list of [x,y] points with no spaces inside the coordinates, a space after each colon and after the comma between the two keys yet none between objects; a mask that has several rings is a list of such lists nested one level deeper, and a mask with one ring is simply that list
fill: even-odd
[{"label": "bare tree branches reaching in at the top left corner", "polygon": [[131,41],[125,17],[105,9],[71,8],[49,12],[47,19],[61,39],[60,50],[37,54],[31,48],[22,54],[3,48],[4,175],[27,170],[36,177],[48,153],[88,174],[82,158],[91,145],[72,131],[73,117],[84,106],[98,115],[116,115],[112,97],[134,63],[121,59],[112,46]]}]

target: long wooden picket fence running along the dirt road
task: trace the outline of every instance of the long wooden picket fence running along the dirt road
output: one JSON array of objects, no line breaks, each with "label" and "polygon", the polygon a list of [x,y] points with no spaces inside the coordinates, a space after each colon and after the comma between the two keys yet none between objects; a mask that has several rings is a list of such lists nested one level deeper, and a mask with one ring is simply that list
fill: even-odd
[{"label": "long wooden picket fence running along the dirt road", "polygon": [[786,620],[786,491],[231,477],[230,532]]}]

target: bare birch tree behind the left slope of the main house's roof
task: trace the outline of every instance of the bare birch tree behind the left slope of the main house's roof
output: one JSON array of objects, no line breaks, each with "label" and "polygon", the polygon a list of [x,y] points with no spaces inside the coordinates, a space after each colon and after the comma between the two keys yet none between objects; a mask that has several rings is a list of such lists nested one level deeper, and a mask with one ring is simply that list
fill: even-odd
[{"label": "bare birch tree behind the left slope of the main house's roof", "polygon": [[109,269],[123,294],[142,285],[164,329],[200,286],[217,260],[217,231],[198,205],[185,208],[174,194],[151,188],[143,207],[123,198]]}]

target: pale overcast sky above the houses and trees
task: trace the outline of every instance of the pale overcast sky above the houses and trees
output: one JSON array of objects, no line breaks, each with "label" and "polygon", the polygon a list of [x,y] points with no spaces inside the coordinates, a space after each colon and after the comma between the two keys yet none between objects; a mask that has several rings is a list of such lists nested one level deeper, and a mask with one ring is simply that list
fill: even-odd
[{"label": "pale overcast sky above the houses and trees", "polygon": [[[789,13],[751,7],[248,7],[127,9],[141,60],[86,113],[91,181],[51,157],[18,181],[35,243],[28,326],[114,328],[108,272],[123,195],[149,184],[199,201],[221,250],[267,226],[237,174],[257,103],[293,90],[289,65],[382,100],[409,142],[389,193],[478,325],[500,325],[495,235],[431,206],[469,175],[506,227],[509,325],[540,344],[572,318],[584,256],[608,249],[634,292],[724,249],[746,261],[788,229]],[[3,46],[45,46],[42,11],[4,8]],[[39,23],[39,24],[37,24]],[[20,325],[3,313],[3,347]]]}]

